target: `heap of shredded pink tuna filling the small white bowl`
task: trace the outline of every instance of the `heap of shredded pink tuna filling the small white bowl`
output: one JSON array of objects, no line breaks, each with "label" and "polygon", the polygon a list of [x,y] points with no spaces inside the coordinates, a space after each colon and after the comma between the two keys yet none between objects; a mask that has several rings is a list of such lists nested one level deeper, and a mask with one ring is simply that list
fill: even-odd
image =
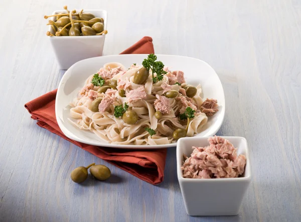
[{"label": "heap of shredded pink tuna filling the small white bowl", "polygon": [[207,147],[193,147],[191,157],[184,161],[181,169],[185,178],[234,178],[243,174],[244,155],[237,156],[234,146],[221,137],[208,141]]}]

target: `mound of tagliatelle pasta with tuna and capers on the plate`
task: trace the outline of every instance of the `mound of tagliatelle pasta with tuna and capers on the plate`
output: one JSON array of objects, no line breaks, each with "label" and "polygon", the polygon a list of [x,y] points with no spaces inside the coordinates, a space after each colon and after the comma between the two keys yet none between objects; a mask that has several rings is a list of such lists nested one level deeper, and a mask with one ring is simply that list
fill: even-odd
[{"label": "mound of tagliatelle pasta with tuna and capers on the plate", "polygon": [[[186,92],[190,93],[188,88],[193,86],[188,87],[184,73],[172,72],[168,67],[164,70],[163,78],[155,82],[157,73],[153,75],[151,69],[143,66],[133,64],[127,69],[120,63],[105,64],[87,78],[70,103],[69,121],[112,144],[162,145],[176,141],[173,135],[176,130],[185,131],[187,136],[200,133],[208,119],[200,109],[201,85],[194,87],[192,90],[196,92],[188,97]],[[135,83],[135,75],[142,72],[145,81]],[[171,90],[172,97],[168,98],[166,92]],[[193,118],[183,118],[187,108]]]}]

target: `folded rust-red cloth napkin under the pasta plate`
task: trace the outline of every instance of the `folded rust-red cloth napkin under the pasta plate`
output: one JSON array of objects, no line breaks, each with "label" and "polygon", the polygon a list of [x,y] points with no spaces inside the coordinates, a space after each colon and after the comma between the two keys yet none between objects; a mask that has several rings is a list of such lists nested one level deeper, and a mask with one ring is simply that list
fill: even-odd
[{"label": "folded rust-red cloth napkin under the pasta plate", "polygon": [[[154,53],[153,39],[143,37],[137,43],[121,54]],[[164,168],[167,149],[160,150],[124,150],[107,147],[97,147],[79,143],[67,138],[59,128],[55,117],[55,98],[57,89],[46,93],[25,104],[31,118],[37,124],[52,133],[70,141],[93,155],[129,172],[151,184],[159,184],[164,178]]]}]

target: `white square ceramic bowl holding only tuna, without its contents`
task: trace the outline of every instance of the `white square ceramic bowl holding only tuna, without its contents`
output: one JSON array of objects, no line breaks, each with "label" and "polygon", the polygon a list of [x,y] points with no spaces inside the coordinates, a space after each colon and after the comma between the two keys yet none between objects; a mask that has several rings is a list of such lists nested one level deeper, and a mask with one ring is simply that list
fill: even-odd
[{"label": "white square ceramic bowl holding only tuna, without its contents", "polygon": [[243,137],[223,137],[237,149],[237,155],[246,156],[242,177],[218,179],[188,179],[183,177],[183,154],[190,157],[192,147],[209,145],[209,137],[186,137],[177,144],[177,173],[187,214],[191,216],[236,215],[251,182],[247,141]]}]

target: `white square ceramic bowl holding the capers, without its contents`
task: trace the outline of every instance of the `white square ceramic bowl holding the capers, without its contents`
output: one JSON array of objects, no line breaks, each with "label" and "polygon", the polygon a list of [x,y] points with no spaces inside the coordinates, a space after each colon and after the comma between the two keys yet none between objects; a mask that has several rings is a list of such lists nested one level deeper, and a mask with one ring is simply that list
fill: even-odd
[{"label": "white square ceramic bowl holding the capers, without its contents", "polygon": [[[66,11],[55,11],[57,15]],[[77,10],[77,12],[79,12]],[[95,17],[104,19],[104,30],[107,29],[107,12],[104,10],[84,10],[84,13],[92,13]],[[50,17],[55,21],[55,17]],[[54,33],[52,27],[49,31]],[[105,34],[100,36],[49,36],[51,45],[61,69],[68,69],[74,63],[91,58],[102,56]]]}]

